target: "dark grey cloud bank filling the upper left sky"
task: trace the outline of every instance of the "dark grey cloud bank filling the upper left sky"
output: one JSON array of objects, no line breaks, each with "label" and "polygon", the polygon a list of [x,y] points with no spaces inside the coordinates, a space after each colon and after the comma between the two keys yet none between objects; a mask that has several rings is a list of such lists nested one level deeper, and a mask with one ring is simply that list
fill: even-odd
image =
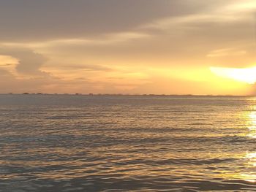
[{"label": "dark grey cloud bank filling the upper left sky", "polygon": [[220,3],[223,1],[0,1],[0,41],[79,38],[127,31],[159,18],[205,12]]}]

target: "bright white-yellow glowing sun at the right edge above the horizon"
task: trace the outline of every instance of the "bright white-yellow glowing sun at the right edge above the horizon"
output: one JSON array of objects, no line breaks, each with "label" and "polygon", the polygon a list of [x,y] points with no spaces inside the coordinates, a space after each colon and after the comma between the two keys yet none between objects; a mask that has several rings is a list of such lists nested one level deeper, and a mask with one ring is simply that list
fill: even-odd
[{"label": "bright white-yellow glowing sun at the right edge above the horizon", "polygon": [[256,66],[249,68],[210,67],[210,70],[219,77],[230,78],[249,84],[256,82]]}]

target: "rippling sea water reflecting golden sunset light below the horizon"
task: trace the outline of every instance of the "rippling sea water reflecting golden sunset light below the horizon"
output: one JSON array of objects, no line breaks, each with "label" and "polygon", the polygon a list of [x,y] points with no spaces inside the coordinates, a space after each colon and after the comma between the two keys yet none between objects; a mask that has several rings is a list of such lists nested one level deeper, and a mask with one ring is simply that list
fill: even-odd
[{"label": "rippling sea water reflecting golden sunset light below the horizon", "polygon": [[256,98],[1,95],[0,191],[256,191]]}]

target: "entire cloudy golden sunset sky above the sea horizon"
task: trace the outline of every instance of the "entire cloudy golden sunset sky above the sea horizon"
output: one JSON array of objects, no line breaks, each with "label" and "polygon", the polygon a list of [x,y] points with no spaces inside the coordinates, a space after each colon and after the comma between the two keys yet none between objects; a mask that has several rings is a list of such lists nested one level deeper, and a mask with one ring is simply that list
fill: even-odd
[{"label": "entire cloudy golden sunset sky above the sea horizon", "polygon": [[0,0],[0,93],[256,94],[255,0]]}]

